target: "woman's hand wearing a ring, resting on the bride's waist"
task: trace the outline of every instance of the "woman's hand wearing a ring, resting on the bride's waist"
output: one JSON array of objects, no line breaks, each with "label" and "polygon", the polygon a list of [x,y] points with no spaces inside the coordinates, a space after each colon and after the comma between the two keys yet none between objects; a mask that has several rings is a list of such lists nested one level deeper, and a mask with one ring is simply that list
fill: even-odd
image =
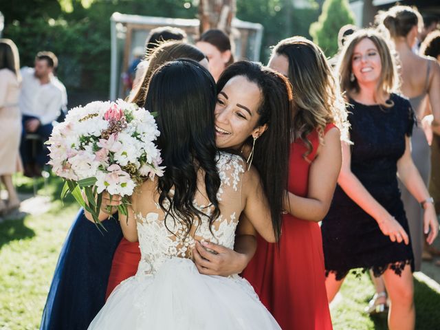
[{"label": "woman's hand wearing a ring, resting on the bride's waist", "polygon": [[200,274],[230,276],[240,274],[248,265],[245,254],[207,241],[196,241],[193,254]]}]

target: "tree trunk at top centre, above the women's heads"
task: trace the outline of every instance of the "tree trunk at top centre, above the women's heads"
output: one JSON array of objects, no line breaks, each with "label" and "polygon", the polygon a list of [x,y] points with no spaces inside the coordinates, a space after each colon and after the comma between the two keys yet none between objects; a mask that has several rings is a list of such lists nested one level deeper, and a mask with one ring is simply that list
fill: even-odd
[{"label": "tree trunk at top centre, above the women's heads", "polygon": [[200,0],[199,3],[199,32],[219,29],[230,35],[232,18],[236,12],[236,0]]}]

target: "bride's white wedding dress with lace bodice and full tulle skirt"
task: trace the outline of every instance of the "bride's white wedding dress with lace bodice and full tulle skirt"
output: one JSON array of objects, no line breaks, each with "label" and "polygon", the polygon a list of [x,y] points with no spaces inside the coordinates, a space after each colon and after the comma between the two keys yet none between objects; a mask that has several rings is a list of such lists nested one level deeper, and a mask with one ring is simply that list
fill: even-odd
[{"label": "bride's white wedding dress with lace bodice and full tulle skirt", "polygon": [[[239,275],[199,274],[191,260],[195,239],[234,248],[245,163],[220,153],[217,168],[221,216],[212,232],[208,217],[202,217],[184,239],[183,226],[168,218],[168,230],[157,205],[147,202],[144,209],[135,210],[142,254],[137,274],[115,288],[89,329],[281,329],[248,281]],[[197,195],[196,202],[202,201]],[[210,210],[201,203],[199,209]],[[152,209],[155,212],[148,212]]]}]

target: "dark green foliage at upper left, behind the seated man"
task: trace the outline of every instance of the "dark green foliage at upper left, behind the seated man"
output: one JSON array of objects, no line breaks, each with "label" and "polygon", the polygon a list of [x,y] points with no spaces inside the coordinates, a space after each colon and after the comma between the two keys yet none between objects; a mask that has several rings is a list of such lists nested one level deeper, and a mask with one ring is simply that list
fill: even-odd
[{"label": "dark green foliage at upper left, behind the seated man", "polygon": [[21,66],[33,66],[36,52],[50,50],[58,56],[58,76],[69,92],[93,90],[102,94],[109,90],[111,14],[122,12],[192,19],[197,13],[197,8],[193,6],[184,8],[186,2],[184,0],[12,1],[4,7],[5,10],[2,8],[5,15],[3,37],[10,38],[17,44]]}]

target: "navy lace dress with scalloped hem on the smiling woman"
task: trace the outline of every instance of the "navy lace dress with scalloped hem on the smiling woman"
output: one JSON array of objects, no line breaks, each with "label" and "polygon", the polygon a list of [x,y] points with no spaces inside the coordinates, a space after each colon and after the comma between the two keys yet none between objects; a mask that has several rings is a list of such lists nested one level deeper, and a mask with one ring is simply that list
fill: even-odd
[{"label": "navy lace dress with scalloped hem on the smiling woman", "polygon": [[[399,221],[409,234],[397,185],[397,161],[405,151],[405,136],[415,118],[410,102],[391,94],[393,107],[366,106],[350,100],[351,171],[366,190]],[[393,243],[375,219],[336,187],[329,213],[322,221],[325,268],[338,280],[354,268],[372,269],[380,276],[391,268],[400,274],[413,268],[411,245]]]}]

